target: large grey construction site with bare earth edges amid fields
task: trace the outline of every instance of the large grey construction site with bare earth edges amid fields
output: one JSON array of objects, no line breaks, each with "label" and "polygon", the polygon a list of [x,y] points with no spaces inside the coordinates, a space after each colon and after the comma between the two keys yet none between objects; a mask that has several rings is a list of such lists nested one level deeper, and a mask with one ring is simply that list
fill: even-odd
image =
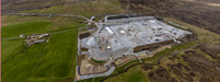
[{"label": "large grey construction site with bare earth edges amid fields", "polygon": [[[79,33],[77,79],[109,75],[117,67],[135,59],[142,62],[142,58],[185,43],[194,35],[186,27],[174,26],[179,25],[155,16],[105,16],[96,30]],[[92,60],[103,62],[92,65]]]}]

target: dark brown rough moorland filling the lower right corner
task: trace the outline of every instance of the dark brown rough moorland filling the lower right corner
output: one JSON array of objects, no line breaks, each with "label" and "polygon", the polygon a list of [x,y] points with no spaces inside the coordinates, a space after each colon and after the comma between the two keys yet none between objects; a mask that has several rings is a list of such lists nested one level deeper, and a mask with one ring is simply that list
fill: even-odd
[{"label": "dark brown rough moorland filling the lower right corner", "polygon": [[[156,66],[142,66],[152,82],[219,82],[220,81],[220,45],[202,44],[184,55],[168,56],[169,62]],[[177,62],[175,62],[177,61]],[[163,62],[163,61],[162,61]]]}]

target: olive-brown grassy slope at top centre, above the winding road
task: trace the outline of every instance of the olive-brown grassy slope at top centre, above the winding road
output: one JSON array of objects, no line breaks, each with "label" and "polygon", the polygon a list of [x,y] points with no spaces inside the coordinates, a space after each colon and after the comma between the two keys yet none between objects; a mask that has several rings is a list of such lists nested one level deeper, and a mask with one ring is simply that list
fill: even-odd
[{"label": "olive-brown grassy slope at top centre, above the winding road", "polygon": [[97,14],[109,13],[124,13],[118,0],[95,0],[88,2],[78,2],[64,5],[55,5],[47,9],[36,9],[31,11],[20,11],[26,13],[63,13],[63,14],[76,14],[84,16],[92,16]]}]

